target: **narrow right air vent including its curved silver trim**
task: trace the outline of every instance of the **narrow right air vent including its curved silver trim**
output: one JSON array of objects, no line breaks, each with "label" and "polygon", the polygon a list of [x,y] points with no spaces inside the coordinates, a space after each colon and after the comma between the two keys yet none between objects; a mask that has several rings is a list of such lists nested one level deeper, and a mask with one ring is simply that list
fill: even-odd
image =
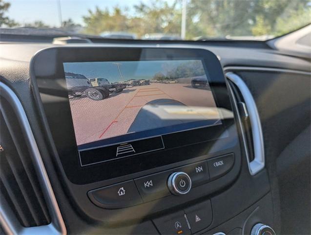
[{"label": "narrow right air vent including its curved silver trim", "polygon": [[237,110],[249,173],[255,175],[265,167],[264,141],[257,107],[249,88],[240,76],[227,72],[226,77]]}]

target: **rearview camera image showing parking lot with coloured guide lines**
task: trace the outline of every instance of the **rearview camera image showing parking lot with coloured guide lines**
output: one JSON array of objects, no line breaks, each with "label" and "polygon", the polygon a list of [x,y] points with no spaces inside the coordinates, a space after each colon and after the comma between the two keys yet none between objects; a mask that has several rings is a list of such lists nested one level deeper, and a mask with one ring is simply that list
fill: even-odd
[{"label": "rearview camera image showing parking lot with coloured guide lines", "polygon": [[201,60],[74,62],[63,67],[78,147],[221,124]]}]

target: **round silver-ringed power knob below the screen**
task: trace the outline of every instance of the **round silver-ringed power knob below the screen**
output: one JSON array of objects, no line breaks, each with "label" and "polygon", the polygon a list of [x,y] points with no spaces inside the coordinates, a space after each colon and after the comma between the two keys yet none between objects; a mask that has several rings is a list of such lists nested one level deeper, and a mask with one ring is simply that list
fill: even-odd
[{"label": "round silver-ringed power knob below the screen", "polygon": [[168,177],[167,187],[175,195],[183,195],[191,189],[191,179],[185,172],[175,172]]}]

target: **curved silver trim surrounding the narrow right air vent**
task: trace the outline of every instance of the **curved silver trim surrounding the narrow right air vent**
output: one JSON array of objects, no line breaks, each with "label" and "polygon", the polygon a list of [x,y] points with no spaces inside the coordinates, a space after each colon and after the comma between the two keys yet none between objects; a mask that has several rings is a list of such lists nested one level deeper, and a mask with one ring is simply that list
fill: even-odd
[{"label": "curved silver trim surrounding the narrow right air vent", "polygon": [[[249,150],[246,145],[246,137],[244,134],[244,128],[241,122],[241,117],[240,117],[239,112],[237,112],[237,117],[238,117],[238,121],[240,124],[241,132],[242,132],[243,145],[244,145],[244,149],[245,149],[245,153],[246,153],[246,157],[247,157],[247,161],[249,165],[249,173],[251,175],[255,175],[265,167],[264,138],[262,134],[259,114],[256,108],[256,103],[253,99],[253,96],[251,95],[249,91],[249,88],[247,87],[247,85],[244,83],[244,81],[242,80],[240,76],[238,76],[237,74],[233,72],[227,72],[226,77],[231,82],[233,82],[240,90],[244,98],[246,108],[249,113],[249,121],[251,125],[252,139],[253,139],[253,145],[254,145],[254,160],[251,162],[249,161]],[[229,89],[232,94],[232,98],[234,101],[233,103],[235,105],[235,108],[237,109],[238,107],[237,107],[236,99],[235,99],[235,96],[233,94],[233,91],[230,85],[229,85]]]}]

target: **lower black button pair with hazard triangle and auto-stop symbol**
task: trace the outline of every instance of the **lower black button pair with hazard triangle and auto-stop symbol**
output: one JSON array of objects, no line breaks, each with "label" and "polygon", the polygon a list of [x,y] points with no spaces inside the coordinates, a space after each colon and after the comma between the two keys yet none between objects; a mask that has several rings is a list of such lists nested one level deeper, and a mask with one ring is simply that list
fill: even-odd
[{"label": "lower black button pair with hazard triangle and auto-stop symbol", "polygon": [[187,235],[207,228],[212,222],[210,201],[153,220],[161,234]]}]

